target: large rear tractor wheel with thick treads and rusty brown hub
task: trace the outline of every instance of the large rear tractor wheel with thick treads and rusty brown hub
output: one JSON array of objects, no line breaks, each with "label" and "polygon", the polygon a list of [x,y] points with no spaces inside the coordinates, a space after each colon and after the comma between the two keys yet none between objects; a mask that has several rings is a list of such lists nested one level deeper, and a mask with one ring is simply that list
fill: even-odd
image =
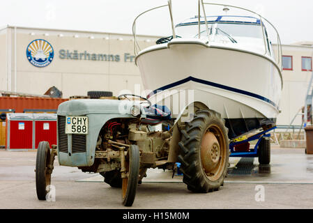
[{"label": "large rear tractor wheel with thick treads and rusty brown hub", "polygon": [[229,160],[227,128],[219,114],[198,110],[181,131],[183,182],[192,192],[211,192],[224,183]]}]

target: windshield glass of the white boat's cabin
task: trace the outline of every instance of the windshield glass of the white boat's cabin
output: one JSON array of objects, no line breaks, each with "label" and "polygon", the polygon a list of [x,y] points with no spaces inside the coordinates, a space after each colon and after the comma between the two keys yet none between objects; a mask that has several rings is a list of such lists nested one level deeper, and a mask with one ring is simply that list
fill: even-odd
[{"label": "windshield glass of the white boat's cabin", "polygon": [[[177,35],[183,38],[198,38],[198,25],[188,24],[176,26]],[[200,38],[209,38],[214,42],[262,44],[263,33],[259,24],[210,23],[208,31],[206,25],[200,25]]]}]

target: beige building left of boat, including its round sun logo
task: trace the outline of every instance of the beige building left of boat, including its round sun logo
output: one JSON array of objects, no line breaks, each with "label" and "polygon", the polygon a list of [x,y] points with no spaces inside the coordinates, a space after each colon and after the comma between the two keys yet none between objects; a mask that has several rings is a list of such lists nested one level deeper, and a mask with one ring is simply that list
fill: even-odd
[{"label": "beige building left of boat, including its round sun logo", "polygon": [[[139,36],[143,46],[157,39]],[[141,84],[132,35],[6,26],[0,29],[0,48],[2,91],[43,94],[56,86],[68,98],[87,91],[117,95]],[[36,55],[27,55],[27,49]],[[40,54],[49,61],[38,62]]]}]

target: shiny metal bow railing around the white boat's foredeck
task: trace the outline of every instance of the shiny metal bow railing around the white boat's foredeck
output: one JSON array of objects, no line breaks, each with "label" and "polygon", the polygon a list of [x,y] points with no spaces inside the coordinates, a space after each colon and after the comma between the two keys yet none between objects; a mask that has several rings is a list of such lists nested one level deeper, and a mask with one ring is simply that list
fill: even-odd
[{"label": "shiny metal bow railing around the white boat's foredeck", "polygon": [[[175,26],[174,26],[174,22],[173,22],[173,13],[172,13],[172,7],[171,7],[171,0],[168,0],[167,2],[168,2],[167,5],[151,8],[151,9],[146,10],[143,13],[139,14],[135,18],[134,22],[132,23],[132,35],[134,36],[134,52],[135,52],[135,56],[137,56],[138,52],[140,51],[140,47],[139,47],[139,45],[137,43],[137,36],[136,36],[136,22],[137,22],[137,19],[140,16],[144,15],[145,13],[148,13],[151,10],[155,10],[155,9],[162,8],[162,7],[168,7],[169,8],[169,15],[170,15],[170,18],[171,18],[172,36],[173,36],[173,38],[176,38]],[[208,22],[206,20],[206,10],[204,8],[204,5],[238,8],[238,9],[245,10],[247,12],[253,13],[254,15],[257,15],[259,17],[259,19],[260,19],[260,24],[261,24],[262,34],[263,34],[264,47],[265,47],[265,53],[264,54],[268,53],[269,43],[268,43],[267,37],[265,35],[265,28],[264,28],[264,22],[263,21],[268,22],[268,24],[270,24],[270,26],[273,27],[273,29],[275,30],[275,32],[277,34],[277,61],[276,61],[276,63],[280,66],[280,70],[282,70],[282,44],[281,44],[281,41],[280,41],[280,34],[278,33],[278,31],[275,28],[275,26],[273,26],[273,24],[271,24],[268,20],[266,20],[266,18],[262,17],[258,13],[253,12],[252,10],[248,10],[248,9],[241,8],[241,7],[238,7],[238,6],[230,6],[230,5],[224,5],[224,4],[219,4],[219,3],[206,3],[203,0],[198,0],[198,38],[200,38],[200,36],[201,36],[200,35],[201,8],[202,8],[202,11],[203,11],[203,14],[204,14],[204,19],[205,19],[204,22],[206,24],[206,32],[207,32],[208,36],[210,36],[209,35],[209,29],[208,29]],[[210,40],[209,40],[209,42],[210,42]]]}]

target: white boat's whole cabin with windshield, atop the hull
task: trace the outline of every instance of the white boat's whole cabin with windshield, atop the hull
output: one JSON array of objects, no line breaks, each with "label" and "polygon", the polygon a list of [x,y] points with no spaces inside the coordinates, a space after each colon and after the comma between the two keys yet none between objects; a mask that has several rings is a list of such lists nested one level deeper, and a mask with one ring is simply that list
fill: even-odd
[{"label": "white boat's whole cabin with windshield, atop the hull", "polygon": [[[199,38],[199,18],[197,16],[176,25],[176,35],[181,38]],[[206,29],[206,24],[208,30]],[[251,50],[273,56],[272,44],[268,40],[266,27],[256,17],[218,15],[200,18],[200,39],[208,40],[213,45],[225,45]],[[267,43],[264,43],[264,40]],[[268,49],[265,49],[268,47]]]}]

